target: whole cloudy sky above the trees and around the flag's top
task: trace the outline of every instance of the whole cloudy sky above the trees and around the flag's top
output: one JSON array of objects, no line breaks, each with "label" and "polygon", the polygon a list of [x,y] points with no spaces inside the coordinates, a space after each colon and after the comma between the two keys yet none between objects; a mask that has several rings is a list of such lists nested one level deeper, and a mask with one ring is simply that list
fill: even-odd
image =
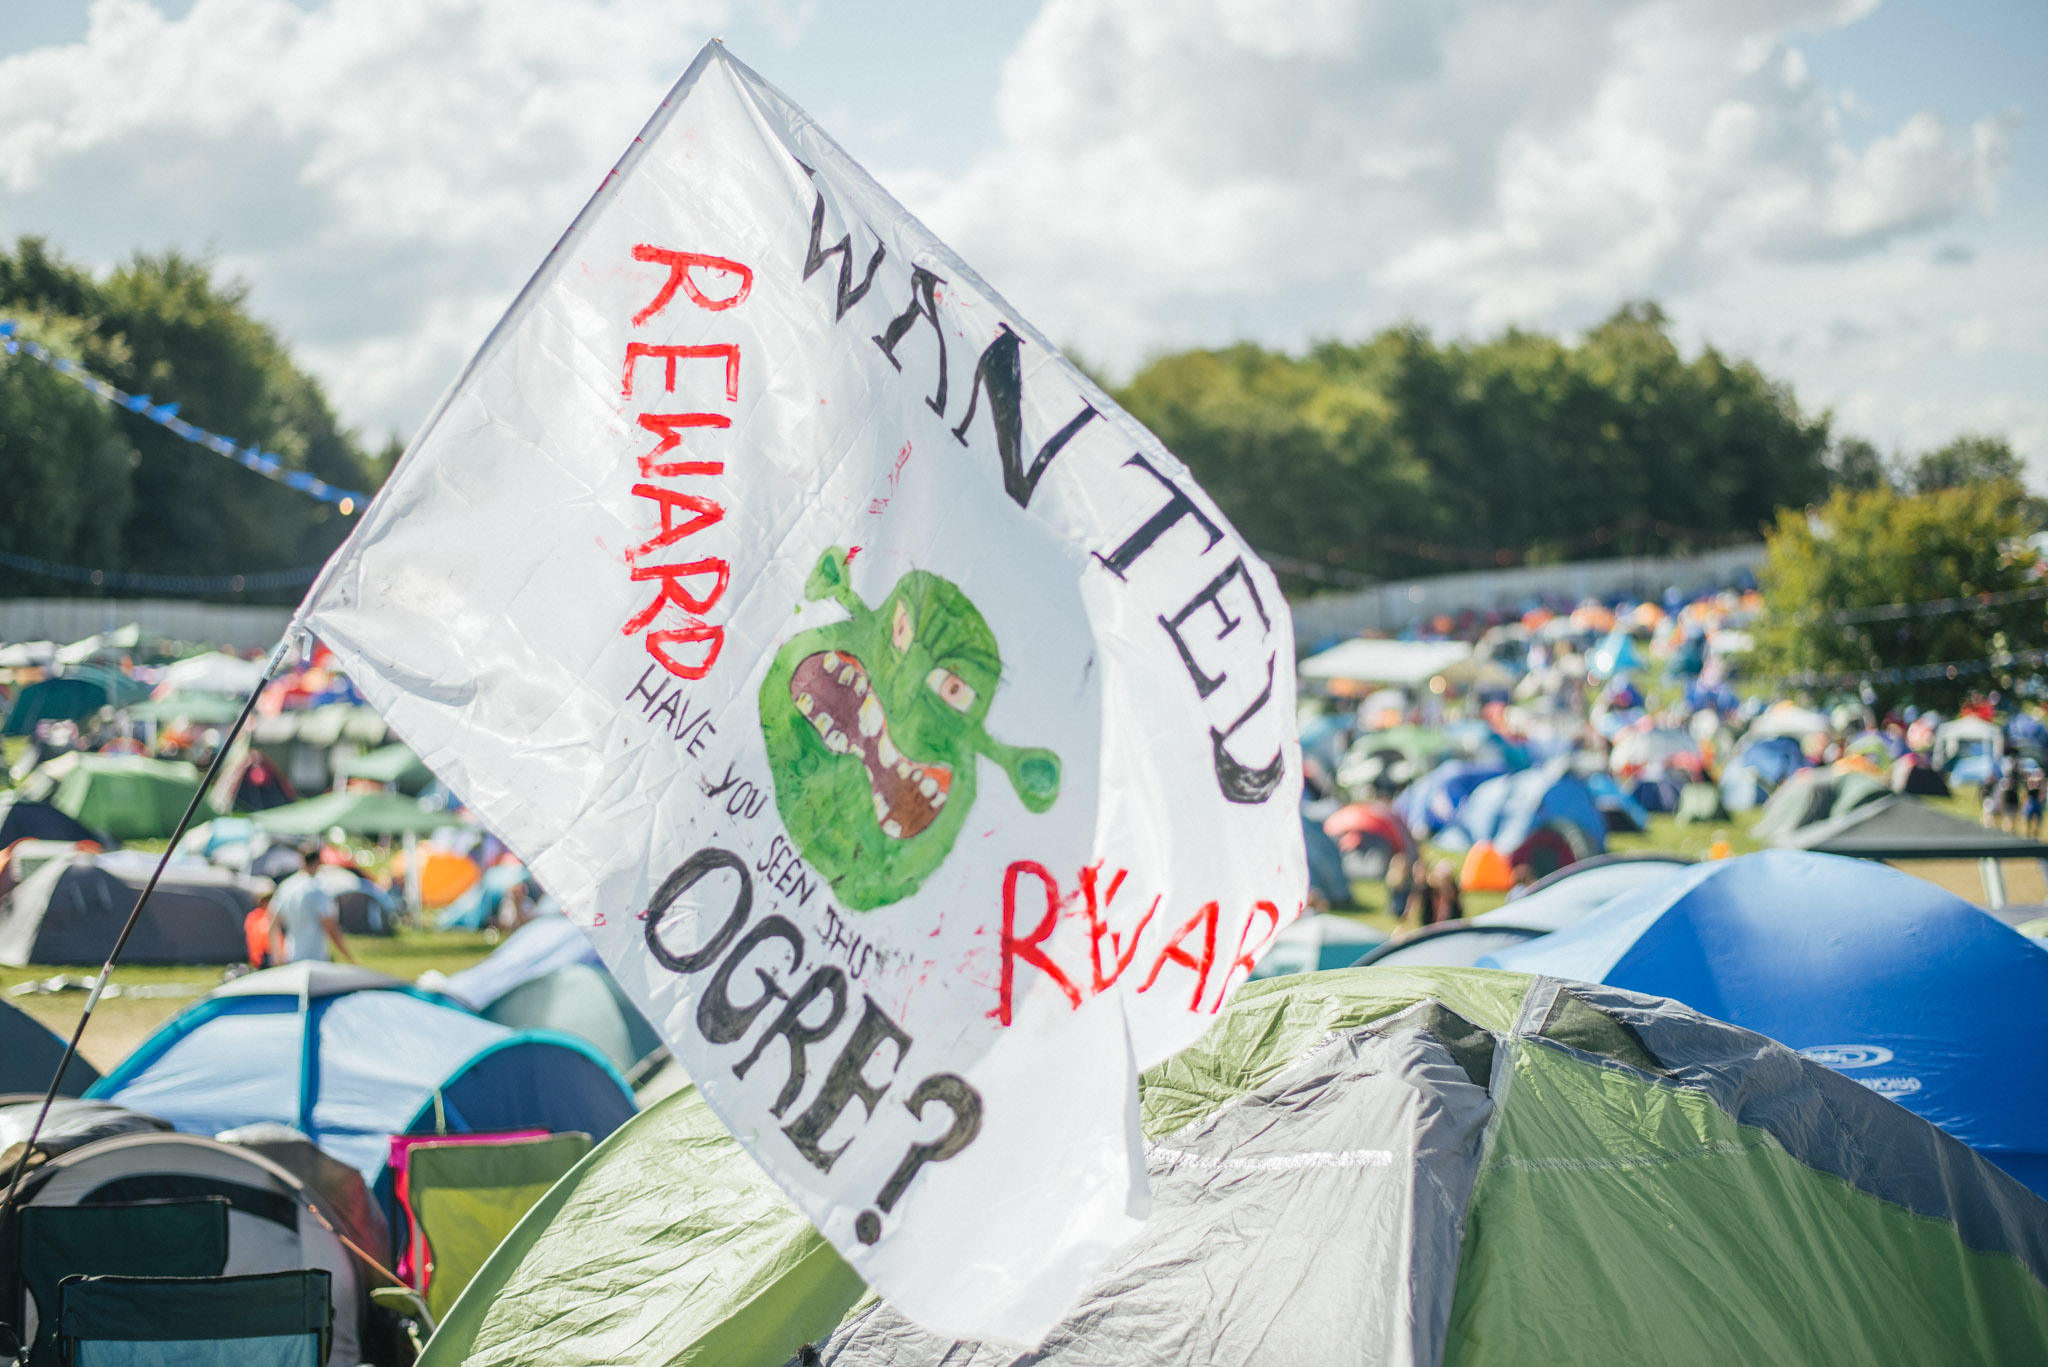
[{"label": "whole cloudy sky above the trees and around the flag's top", "polygon": [[209,254],[406,434],[713,35],[1116,373],[1653,297],[2048,486],[2042,0],[0,0],[0,238]]}]

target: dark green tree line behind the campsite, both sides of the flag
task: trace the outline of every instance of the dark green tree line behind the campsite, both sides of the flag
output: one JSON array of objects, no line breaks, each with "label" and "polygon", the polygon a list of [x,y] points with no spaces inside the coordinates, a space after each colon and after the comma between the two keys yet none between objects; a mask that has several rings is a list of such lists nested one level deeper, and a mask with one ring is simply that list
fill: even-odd
[{"label": "dark green tree line behind the campsite, both sides of the flag", "polygon": [[[139,254],[94,277],[23,238],[0,252],[0,318],[328,484],[371,492],[397,457],[395,441],[373,451],[346,430],[246,289],[201,260]],[[1997,439],[1913,459],[1837,439],[1753,363],[1683,355],[1653,303],[1579,340],[1509,328],[1440,342],[1403,326],[1300,355],[1182,350],[1112,391],[1296,592],[1683,553],[1755,541],[1780,508],[1833,490],[2019,480]],[[0,359],[0,549],[131,574],[313,566],[350,523],[23,357]],[[0,566],[0,594],[63,592],[102,590]]]}]

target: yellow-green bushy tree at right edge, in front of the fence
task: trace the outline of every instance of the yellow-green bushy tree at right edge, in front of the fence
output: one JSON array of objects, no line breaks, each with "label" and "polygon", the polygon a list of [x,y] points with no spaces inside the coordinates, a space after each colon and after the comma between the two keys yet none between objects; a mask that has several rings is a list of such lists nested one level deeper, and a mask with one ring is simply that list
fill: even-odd
[{"label": "yellow-green bushy tree at right edge, in front of the fence", "polygon": [[[1876,672],[1868,685],[1880,707],[1917,701],[1954,709],[1970,693],[2009,689],[2009,668],[1970,664],[2048,644],[2042,600],[1954,600],[2036,584],[2023,508],[2011,480],[1927,494],[1837,490],[1810,512],[1786,508],[1757,576],[1767,605],[1757,625],[1759,668],[1835,682]],[[1929,607],[1942,600],[1950,605]],[[1954,678],[1884,676],[1946,664],[1962,668]]]}]

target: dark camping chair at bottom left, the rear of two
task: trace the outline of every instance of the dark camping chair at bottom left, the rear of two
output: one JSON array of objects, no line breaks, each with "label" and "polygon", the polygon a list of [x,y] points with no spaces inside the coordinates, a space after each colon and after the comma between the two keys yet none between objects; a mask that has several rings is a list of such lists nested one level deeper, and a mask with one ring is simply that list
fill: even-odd
[{"label": "dark camping chair at bottom left, the rear of two", "polygon": [[[227,1197],[20,1211],[23,1291],[35,1299],[31,1367],[57,1363],[57,1285],[66,1277],[217,1277],[227,1265]],[[12,1316],[27,1332],[16,1299]]]}]

